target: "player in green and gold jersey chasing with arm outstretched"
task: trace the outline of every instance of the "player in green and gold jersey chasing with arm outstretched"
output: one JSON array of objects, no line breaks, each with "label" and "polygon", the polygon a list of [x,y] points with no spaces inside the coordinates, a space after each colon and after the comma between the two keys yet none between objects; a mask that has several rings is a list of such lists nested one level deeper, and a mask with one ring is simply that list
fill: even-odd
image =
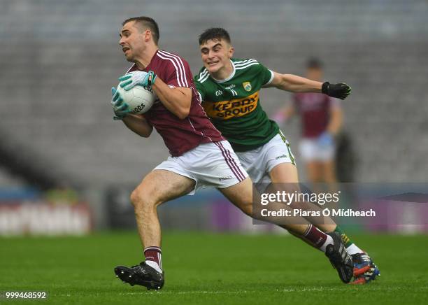
[{"label": "player in green and gold jersey chasing with arm outstretched", "polygon": [[[233,58],[234,47],[229,33],[222,28],[206,29],[199,36],[199,49],[204,67],[194,77],[194,82],[202,105],[215,127],[231,143],[245,171],[255,183],[272,182],[297,187],[299,178],[290,144],[262,109],[259,90],[277,87],[290,92],[324,93],[345,99],[350,94],[350,87],[345,83],[321,83],[281,74],[267,69],[256,59]],[[313,209],[311,205],[300,202],[293,202],[291,206],[302,204],[302,208]],[[355,283],[376,277],[378,269],[368,255],[352,243],[333,220],[328,219],[321,224],[312,220],[312,224],[324,232],[336,232],[342,236],[348,252],[357,262]],[[361,262],[362,257],[364,262]]]}]

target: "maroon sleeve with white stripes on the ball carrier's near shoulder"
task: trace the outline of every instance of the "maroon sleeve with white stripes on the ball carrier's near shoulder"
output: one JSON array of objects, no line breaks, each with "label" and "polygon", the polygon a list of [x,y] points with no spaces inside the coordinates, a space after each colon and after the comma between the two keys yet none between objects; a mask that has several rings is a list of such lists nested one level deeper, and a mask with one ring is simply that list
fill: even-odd
[{"label": "maroon sleeve with white stripes on the ball carrier's near shoulder", "polygon": [[192,87],[192,72],[189,64],[181,57],[169,55],[169,64],[166,67],[166,80],[164,82],[169,87]]}]

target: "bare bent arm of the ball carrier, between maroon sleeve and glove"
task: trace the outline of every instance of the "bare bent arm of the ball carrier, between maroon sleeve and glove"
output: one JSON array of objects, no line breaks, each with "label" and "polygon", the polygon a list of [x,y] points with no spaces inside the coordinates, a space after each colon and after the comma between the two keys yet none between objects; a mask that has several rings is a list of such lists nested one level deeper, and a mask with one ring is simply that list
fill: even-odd
[{"label": "bare bent arm of the ball carrier, between maroon sleeve and glove", "polygon": [[166,85],[163,80],[157,78],[152,85],[157,97],[162,101],[162,104],[177,115],[180,119],[187,118],[190,113],[190,105],[192,104],[192,89],[187,87],[171,88]]}]

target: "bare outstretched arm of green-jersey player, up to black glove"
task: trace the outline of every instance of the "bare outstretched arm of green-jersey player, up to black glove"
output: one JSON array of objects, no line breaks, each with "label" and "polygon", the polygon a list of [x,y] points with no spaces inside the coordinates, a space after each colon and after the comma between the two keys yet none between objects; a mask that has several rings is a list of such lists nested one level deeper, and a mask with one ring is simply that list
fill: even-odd
[{"label": "bare outstretched arm of green-jersey player, up to black glove", "polygon": [[273,72],[273,80],[263,87],[277,87],[290,92],[321,92],[322,83],[293,74]]}]

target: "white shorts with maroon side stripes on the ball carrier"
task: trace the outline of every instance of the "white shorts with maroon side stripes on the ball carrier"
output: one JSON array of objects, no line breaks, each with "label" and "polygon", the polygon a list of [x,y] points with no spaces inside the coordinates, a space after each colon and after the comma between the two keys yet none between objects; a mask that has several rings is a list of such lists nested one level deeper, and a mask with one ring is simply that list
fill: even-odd
[{"label": "white shorts with maroon side stripes on the ball carrier", "polygon": [[168,157],[156,169],[193,179],[196,185],[190,195],[203,187],[236,185],[248,177],[228,141],[201,144],[180,157]]}]

